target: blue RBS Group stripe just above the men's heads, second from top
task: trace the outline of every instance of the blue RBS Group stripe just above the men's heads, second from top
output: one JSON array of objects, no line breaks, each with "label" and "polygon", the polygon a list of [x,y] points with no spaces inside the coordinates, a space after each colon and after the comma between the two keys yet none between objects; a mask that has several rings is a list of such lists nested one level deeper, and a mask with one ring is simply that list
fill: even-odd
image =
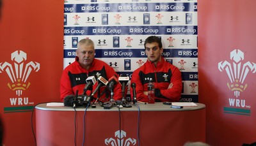
[{"label": "blue RBS Group stripe just above the men's heads, second from top", "polygon": [[77,35],[197,34],[197,26],[99,26],[64,27],[65,36]]}]

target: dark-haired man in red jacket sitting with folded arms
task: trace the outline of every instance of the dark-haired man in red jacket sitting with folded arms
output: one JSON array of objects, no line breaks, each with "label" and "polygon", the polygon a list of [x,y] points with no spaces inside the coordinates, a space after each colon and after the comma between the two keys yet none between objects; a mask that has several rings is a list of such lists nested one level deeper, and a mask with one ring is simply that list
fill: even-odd
[{"label": "dark-haired man in red jacket sitting with folded arms", "polygon": [[[182,92],[180,70],[166,62],[161,55],[163,45],[157,36],[149,36],[144,43],[147,62],[132,73],[131,85],[136,84],[136,99],[148,102],[148,82],[153,79],[156,101],[179,101]],[[132,88],[130,89],[133,94]]]}]

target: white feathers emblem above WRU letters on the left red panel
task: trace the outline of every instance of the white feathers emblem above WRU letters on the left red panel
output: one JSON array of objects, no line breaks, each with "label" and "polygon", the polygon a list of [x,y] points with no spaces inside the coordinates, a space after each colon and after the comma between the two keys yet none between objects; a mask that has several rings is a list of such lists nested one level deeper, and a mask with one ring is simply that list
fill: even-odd
[{"label": "white feathers emblem above WRU letters on the left red panel", "polygon": [[27,54],[21,50],[13,52],[11,59],[13,64],[8,62],[0,63],[0,73],[3,73],[4,71],[7,73],[12,81],[11,84],[7,84],[8,87],[10,87],[12,91],[15,91],[17,96],[21,96],[22,91],[26,91],[30,85],[27,80],[31,71],[37,72],[40,69],[40,64],[33,61],[25,64]]}]

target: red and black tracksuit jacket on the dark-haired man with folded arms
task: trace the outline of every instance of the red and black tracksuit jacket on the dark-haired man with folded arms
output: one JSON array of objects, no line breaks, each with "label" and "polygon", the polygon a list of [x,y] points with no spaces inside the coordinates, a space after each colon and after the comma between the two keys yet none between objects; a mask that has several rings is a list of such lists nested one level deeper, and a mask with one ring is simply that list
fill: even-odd
[{"label": "red and black tracksuit jacket on the dark-haired man with folded arms", "polygon": [[[138,101],[148,102],[148,97],[143,94],[143,91],[148,91],[149,78],[153,79],[156,101],[179,101],[182,92],[180,70],[170,62],[166,62],[164,57],[161,62],[157,63],[157,66],[147,60],[143,66],[132,73],[131,84],[136,84],[136,99]],[[173,85],[168,89],[171,83]],[[132,88],[130,92],[133,95]]]}]

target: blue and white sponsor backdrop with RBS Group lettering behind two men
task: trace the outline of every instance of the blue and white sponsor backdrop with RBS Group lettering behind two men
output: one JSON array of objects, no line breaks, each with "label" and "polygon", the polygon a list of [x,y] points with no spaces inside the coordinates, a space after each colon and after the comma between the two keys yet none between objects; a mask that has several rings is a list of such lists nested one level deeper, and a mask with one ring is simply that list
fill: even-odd
[{"label": "blue and white sponsor backdrop with RBS Group lettering behind two men", "polygon": [[64,68],[74,62],[77,42],[90,38],[95,43],[95,58],[131,79],[132,72],[147,61],[145,39],[159,36],[166,61],[182,72],[181,101],[198,102],[196,0],[64,3]]}]

